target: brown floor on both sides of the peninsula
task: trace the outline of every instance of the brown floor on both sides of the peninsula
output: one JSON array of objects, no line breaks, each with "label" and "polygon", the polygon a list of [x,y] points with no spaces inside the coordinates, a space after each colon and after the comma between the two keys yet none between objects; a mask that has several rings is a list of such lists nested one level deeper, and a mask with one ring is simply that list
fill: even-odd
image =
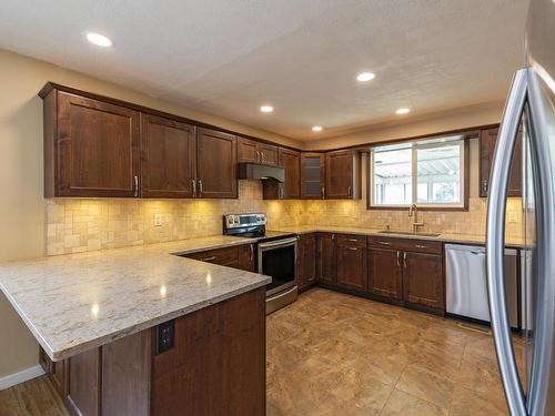
[{"label": "brown floor on both sides of the peninsula", "polygon": [[[268,416],[508,414],[490,335],[322,288],[268,317],[266,367]],[[44,376],[0,392],[16,415],[68,413]]]}]

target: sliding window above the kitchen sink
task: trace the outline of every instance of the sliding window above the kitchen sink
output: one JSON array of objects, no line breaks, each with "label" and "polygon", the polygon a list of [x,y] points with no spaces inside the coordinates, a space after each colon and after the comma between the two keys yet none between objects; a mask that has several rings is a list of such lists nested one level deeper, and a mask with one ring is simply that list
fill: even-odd
[{"label": "sliding window above the kitchen sink", "polygon": [[373,148],[369,207],[465,209],[466,156],[461,135]]}]

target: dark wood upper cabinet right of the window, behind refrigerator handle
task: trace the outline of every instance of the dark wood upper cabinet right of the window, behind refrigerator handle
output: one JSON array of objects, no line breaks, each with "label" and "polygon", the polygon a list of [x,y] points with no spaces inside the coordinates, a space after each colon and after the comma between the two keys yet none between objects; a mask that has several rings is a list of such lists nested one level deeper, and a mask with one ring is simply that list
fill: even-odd
[{"label": "dark wood upper cabinet right of the window, behind refrigerator handle", "polygon": [[[486,197],[490,191],[490,174],[497,133],[497,128],[482,130],[480,133],[480,196],[482,197]],[[522,195],[522,132],[518,132],[515,144],[507,194],[508,196]]]}]

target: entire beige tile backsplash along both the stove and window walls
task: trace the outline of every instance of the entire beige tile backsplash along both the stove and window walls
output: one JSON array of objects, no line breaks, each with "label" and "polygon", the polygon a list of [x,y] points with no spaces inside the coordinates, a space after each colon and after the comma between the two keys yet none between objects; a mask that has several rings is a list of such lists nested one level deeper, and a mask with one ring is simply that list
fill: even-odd
[{"label": "entire beige tile backsplash along both the stove and window walls", "polygon": [[[281,225],[337,225],[408,230],[407,210],[369,211],[357,201],[264,201],[259,181],[240,181],[238,200],[53,199],[47,203],[47,254],[169,242],[222,233],[222,215],[265,212],[269,229]],[[507,204],[507,235],[518,235],[521,201]],[[160,214],[162,225],[154,226]],[[486,200],[471,197],[468,212],[420,212],[424,231],[484,234]]]}]

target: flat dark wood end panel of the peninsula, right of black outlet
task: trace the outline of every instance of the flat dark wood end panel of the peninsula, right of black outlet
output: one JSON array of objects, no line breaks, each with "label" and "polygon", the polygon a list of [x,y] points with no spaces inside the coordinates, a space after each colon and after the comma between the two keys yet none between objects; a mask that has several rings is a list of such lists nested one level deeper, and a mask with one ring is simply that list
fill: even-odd
[{"label": "flat dark wood end panel of the peninsula, right of black outlet", "polygon": [[153,356],[151,414],[265,415],[265,288],[175,319]]}]

